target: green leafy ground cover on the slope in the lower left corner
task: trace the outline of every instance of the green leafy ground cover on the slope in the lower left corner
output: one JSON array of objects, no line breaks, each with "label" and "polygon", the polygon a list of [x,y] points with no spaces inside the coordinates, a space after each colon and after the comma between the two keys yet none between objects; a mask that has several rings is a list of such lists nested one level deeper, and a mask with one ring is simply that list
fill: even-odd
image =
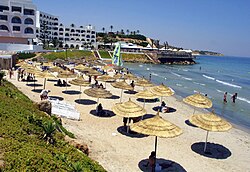
[{"label": "green leafy ground cover on the slope in the lower left corner", "polygon": [[[105,171],[64,141],[58,123],[12,84],[0,86],[0,171]],[[50,131],[48,131],[50,130]],[[53,142],[45,138],[53,138]]]}]

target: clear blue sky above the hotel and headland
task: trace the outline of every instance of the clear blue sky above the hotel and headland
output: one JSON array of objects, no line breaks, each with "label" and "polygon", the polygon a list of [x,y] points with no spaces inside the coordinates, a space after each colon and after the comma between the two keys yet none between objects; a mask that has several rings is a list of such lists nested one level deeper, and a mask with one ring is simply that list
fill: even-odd
[{"label": "clear blue sky above the hotel and headland", "polygon": [[66,25],[140,30],[161,43],[250,57],[250,0],[33,0]]}]

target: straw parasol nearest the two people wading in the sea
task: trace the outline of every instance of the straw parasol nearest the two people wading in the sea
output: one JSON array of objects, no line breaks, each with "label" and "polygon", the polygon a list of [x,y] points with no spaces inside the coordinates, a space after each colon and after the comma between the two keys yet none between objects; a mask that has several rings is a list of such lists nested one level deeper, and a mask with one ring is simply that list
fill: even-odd
[{"label": "straw parasol nearest the two people wading in the sea", "polygon": [[[183,101],[189,105],[192,105],[198,108],[211,108],[213,105],[212,101],[208,97],[203,96],[200,93],[196,93],[191,96],[188,96],[184,98]],[[194,112],[195,112],[195,109],[194,109]]]}]

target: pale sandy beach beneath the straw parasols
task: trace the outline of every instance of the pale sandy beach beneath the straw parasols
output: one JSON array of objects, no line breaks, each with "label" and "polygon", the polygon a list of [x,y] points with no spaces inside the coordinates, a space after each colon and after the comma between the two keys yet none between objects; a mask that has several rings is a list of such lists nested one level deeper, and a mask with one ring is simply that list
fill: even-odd
[{"label": "pale sandy beach beneath the straw parasols", "polygon": [[[16,87],[26,94],[31,100],[40,101],[39,93],[33,92],[33,87],[27,86],[26,82],[17,81],[16,77],[8,79]],[[70,80],[70,79],[69,79]],[[43,84],[43,79],[38,78],[38,84]],[[138,137],[138,135],[127,136],[121,132],[123,125],[122,118],[119,116],[98,117],[90,112],[96,109],[95,98],[82,93],[82,104],[75,102],[79,94],[69,95],[62,93],[63,87],[55,87],[56,82],[47,81],[46,89],[51,92],[49,96],[62,97],[67,102],[74,103],[76,109],[81,113],[81,120],[70,120],[63,118],[63,125],[75,134],[78,140],[85,142],[90,148],[90,157],[98,161],[107,171],[111,172],[134,172],[142,171],[144,159],[147,159],[150,152],[154,150],[153,136]],[[37,87],[42,89],[43,87]],[[82,87],[82,90],[86,89]],[[107,90],[113,95],[120,96],[121,90],[113,88],[107,83]],[[79,91],[78,86],[71,85],[68,90]],[[142,87],[135,87],[136,91],[142,90]],[[123,93],[122,100],[138,102],[134,95]],[[92,100],[92,101],[87,101]],[[217,151],[219,159],[214,157],[205,157],[194,150],[198,150],[206,137],[206,131],[187,125],[185,121],[193,114],[194,108],[186,105],[175,97],[165,97],[163,100],[169,107],[176,109],[175,112],[161,113],[160,115],[183,130],[183,134],[175,138],[159,138],[157,148],[157,158],[166,161],[169,166],[167,171],[250,171],[250,134],[233,127],[228,132],[210,132],[208,142],[214,143],[208,145],[209,151]],[[118,97],[114,99],[100,99],[103,108],[111,111],[112,106],[118,103]],[[146,103],[147,116],[155,115],[156,111],[152,108],[159,106],[160,102]],[[195,113],[204,112],[196,108]],[[111,112],[110,112],[111,113]],[[112,113],[111,113],[112,114]],[[213,149],[212,149],[213,148]],[[218,158],[218,157],[217,157]]]}]

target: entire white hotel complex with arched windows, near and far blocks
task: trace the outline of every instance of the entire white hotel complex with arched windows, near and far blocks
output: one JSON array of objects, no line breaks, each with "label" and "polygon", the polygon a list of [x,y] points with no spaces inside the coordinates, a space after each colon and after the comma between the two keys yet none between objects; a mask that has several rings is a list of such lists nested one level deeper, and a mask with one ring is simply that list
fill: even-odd
[{"label": "entire white hotel complex with arched windows, near and far blocks", "polygon": [[38,11],[32,0],[0,0],[0,50],[38,50],[36,44],[52,40],[64,48],[96,47],[95,27],[59,24],[58,16]]}]

